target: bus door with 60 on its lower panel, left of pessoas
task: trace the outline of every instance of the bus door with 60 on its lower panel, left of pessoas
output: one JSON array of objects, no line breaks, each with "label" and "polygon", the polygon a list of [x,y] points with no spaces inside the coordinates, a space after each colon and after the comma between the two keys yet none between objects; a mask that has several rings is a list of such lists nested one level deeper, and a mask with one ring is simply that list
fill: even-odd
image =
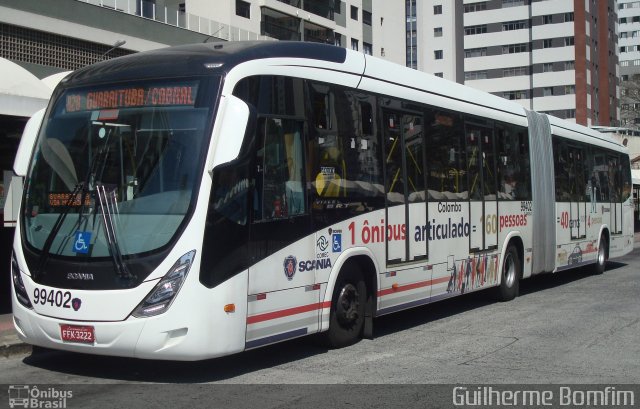
[{"label": "bus door with 60 on its lower panel, left of pessoas", "polygon": [[469,251],[498,247],[498,202],[493,127],[465,124],[469,178]]}]

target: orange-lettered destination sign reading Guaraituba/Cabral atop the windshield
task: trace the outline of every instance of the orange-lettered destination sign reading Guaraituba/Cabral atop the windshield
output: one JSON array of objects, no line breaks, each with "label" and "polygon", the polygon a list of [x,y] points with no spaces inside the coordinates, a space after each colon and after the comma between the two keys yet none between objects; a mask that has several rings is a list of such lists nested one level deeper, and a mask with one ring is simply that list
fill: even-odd
[{"label": "orange-lettered destination sign reading Guaraituba/Cabral atop the windshield", "polygon": [[194,106],[198,85],[194,82],[83,90],[66,95],[67,113],[100,109],[155,106]]}]

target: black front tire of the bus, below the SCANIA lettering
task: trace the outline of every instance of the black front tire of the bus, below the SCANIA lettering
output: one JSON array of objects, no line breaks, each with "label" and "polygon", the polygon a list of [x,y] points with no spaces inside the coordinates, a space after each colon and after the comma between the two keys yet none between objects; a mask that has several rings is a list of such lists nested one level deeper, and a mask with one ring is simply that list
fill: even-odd
[{"label": "black front tire of the bus, below the SCANIA lettering", "polygon": [[362,273],[354,266],[345,267],[331,298],[329,330],[324,340],[327,346],[340,348],[360,340],[366,302],[367,286]]}]

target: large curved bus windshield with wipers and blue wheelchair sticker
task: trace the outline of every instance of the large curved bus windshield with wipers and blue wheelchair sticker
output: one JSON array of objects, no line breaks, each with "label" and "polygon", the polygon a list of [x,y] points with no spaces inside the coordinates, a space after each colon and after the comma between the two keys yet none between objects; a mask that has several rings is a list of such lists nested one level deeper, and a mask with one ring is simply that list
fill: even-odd
[{"label": "large curved bus windshield with wipers and blue wheelchair sticker", "polygon": [[214,100],[199,96],[205,81],[60,93],[27,179],[26,242],[46,255],[114,260],[167,245],[200,180],[211,110],[204,101]]}]

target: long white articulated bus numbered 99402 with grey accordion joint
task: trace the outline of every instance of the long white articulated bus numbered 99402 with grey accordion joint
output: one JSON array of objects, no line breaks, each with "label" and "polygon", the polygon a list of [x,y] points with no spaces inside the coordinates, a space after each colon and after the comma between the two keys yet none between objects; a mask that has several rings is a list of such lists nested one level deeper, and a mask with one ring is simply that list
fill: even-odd
[{"label": "long white articulated bus numbered 99402 with grey accordion joint", "polygon": [[13,314],[27,343],[199,360],[633,247],[606,135],[351,50],[170,47],[80,69],[34,118]]}]

